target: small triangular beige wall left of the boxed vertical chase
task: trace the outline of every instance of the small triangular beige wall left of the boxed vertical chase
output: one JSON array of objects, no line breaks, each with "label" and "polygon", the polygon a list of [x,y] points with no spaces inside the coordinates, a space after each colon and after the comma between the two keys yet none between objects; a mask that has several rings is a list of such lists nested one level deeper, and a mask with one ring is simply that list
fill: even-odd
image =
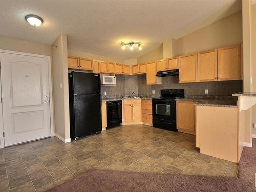
[{"label": "small triangular beige wall left of the boxed vertical chase", "polygon": [[163,59],[163,44],[159,48],[137,58],[138,63],[156,61],[160,59]]}]

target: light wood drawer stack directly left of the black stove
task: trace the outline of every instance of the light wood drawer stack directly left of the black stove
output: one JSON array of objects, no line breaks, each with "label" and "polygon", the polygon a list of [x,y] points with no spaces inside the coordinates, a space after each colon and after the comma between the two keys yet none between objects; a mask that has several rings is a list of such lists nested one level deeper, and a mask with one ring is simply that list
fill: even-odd
[{"label": "light wood drawer stack directly left of the black stove", "polygon": [[151,99],[142,99],[141,101],[142,108],[142,122],[146,125],[153,125],[152,122],[152,100]]}]

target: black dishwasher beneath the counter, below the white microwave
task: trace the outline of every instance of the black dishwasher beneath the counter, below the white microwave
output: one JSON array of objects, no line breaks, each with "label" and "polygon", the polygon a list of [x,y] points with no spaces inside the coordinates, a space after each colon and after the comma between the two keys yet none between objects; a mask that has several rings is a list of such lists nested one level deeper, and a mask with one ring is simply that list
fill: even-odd
[{"label": "black dishwasher beneath the counter, below the white microwave", "polygon": [[122,101],[106,101],[106,128],[122,123]]}]

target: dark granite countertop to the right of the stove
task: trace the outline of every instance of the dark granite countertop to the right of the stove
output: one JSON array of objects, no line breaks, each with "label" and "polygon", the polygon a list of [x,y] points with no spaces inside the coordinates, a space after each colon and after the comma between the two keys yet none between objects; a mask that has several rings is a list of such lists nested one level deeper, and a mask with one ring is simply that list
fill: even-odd
[{"label": "dark granite countertop to the right of the stove", "polygon": [[230,98],[184,98],[177,101],[195,101],[200,106],[221,106],[227,108],[237,108],[237,99]]}]

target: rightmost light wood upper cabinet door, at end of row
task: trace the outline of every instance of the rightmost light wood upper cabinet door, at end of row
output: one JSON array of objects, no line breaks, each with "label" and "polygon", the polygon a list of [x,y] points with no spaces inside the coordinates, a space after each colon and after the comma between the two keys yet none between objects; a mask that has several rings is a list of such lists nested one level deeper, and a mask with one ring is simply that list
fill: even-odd
[{"label": "rightmost light wood upper cabinet door, at end of row", "polygon": [[241,79],[241,46],[218,49],[218,80]]}]

